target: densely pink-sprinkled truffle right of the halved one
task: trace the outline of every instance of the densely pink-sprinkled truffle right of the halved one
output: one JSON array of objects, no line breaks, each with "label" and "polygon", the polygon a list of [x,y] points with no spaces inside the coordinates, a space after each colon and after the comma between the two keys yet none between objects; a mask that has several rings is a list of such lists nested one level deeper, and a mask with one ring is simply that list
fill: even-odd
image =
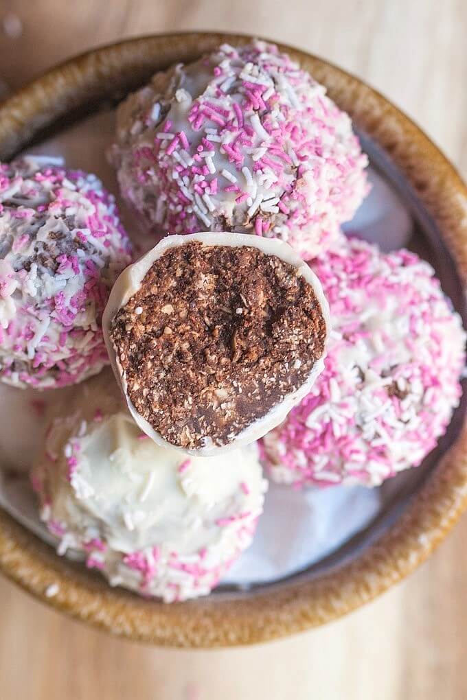
[{"label": "densely pink-sprinkled truffle right of the halved one", "polygon": [[352,239],[314,262],[330,303],[326,368],[263,439],[274,481],[364,484],[419,465],[459,403],[466,335],[433,269]]}]

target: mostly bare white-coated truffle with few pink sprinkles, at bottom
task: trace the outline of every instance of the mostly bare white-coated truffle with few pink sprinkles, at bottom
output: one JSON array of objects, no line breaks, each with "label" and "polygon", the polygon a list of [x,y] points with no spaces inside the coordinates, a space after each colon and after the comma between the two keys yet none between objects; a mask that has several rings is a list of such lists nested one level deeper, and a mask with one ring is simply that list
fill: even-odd
[{"label": "mostly bare white-coated truffle with few pink sprinkles, at bottom", "polygon": [[207,595],[263,512],[256,445],[186,458],[141,434],[120,398],[101,409],[99,386],[53,421],[32,473],[58,553],[78,551],[111,585],[167,603]]}]

